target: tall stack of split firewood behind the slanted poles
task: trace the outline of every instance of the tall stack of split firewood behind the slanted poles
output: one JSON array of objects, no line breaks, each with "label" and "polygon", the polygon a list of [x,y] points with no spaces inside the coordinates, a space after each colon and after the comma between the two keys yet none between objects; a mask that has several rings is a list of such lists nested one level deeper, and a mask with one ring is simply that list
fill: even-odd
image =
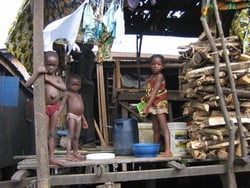
[{"label": "tall stack of split firewood behind the slanted poles", "polygon": [[[250,140],[250,57],[241,53],[237,37],[225,38],[229,53],[236,92],[240,103],[241,121],[246,140]],[[219,83],[223,90],[226,108],[232,122],[237,126],[236,112],[223,58],[220,39],[215,39],[220,57]],[[226,159],[228,156],[229,131],[220,108],[214,78],[214,59],[208,41],[197,41],[182,47],[184,60],[180,75],[180,94],[190,99],[184,104],[183,114],[192,116],[188,126],[187,151],[194,159]],[[235,155],[241,156],[238,131],[235,136]]]}]

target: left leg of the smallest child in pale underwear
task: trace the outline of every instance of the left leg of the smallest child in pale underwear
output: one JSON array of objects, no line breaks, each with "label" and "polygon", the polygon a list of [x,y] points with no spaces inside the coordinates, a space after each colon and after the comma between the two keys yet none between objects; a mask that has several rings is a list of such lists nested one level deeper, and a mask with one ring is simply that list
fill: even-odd
[{"label": "left leg of the smallest child in pale underwear", "polygon": [[73,141],[74,132],[75,132],[75,120],[72,118],[68,119],[68,129],[69,129],[69,134],[67,137],[67,158],[66,158],[66,160],[72,161],[72,160],[74,160],[74,157],[71,155],[71,147],[72,147],[72,141]]}]

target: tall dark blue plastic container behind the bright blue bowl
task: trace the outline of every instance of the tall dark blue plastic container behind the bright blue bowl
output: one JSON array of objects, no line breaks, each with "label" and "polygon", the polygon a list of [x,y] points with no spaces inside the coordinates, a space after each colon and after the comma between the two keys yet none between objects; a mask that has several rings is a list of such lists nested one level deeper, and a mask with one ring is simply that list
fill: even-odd
[{"label": "tall dark blue plastic container behind the bright blue bowl", "polygon": [[113,125],[113,148],[116,155],[133,155],[132,144],[139,142],[135,119],[115,119]]}]

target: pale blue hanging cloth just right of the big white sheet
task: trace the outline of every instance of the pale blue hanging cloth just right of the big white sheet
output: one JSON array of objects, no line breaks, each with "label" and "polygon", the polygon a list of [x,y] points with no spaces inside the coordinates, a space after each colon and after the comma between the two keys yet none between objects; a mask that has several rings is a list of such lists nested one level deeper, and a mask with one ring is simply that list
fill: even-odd
[{"label": "pale blue hanging cloth just right of the big white sheet", "polygon": [[94,41],[95,36],[95,21],[94,21],[94,11],[91,5],[88,3],[85,6],[84,14],[83,14],[83,42],[92,42]]}]

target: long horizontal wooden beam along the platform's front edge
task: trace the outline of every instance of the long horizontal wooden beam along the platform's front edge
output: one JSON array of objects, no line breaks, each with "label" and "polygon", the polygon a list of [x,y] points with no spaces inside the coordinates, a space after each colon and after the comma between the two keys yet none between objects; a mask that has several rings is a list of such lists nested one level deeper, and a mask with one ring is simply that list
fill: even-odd
[{"label": "long horizontal wooden beam along the platform's front edge", "polygon": [[[245,166],[234,166],[235,172],[249,172],[250,164]],[[51,184],[56,185],[72,185],[72,184],[96,184],[105,182],[128,182],[139,180],[166,179],[205,175],[221,175],[225,174],[224,164],[191,166],[181,170],[176,168],[153,169],[153,170],[136,170],[125,172],[107,172],[97,177],[95,174],[74,174],[74,175],[55,175],[51,176]]]}]

